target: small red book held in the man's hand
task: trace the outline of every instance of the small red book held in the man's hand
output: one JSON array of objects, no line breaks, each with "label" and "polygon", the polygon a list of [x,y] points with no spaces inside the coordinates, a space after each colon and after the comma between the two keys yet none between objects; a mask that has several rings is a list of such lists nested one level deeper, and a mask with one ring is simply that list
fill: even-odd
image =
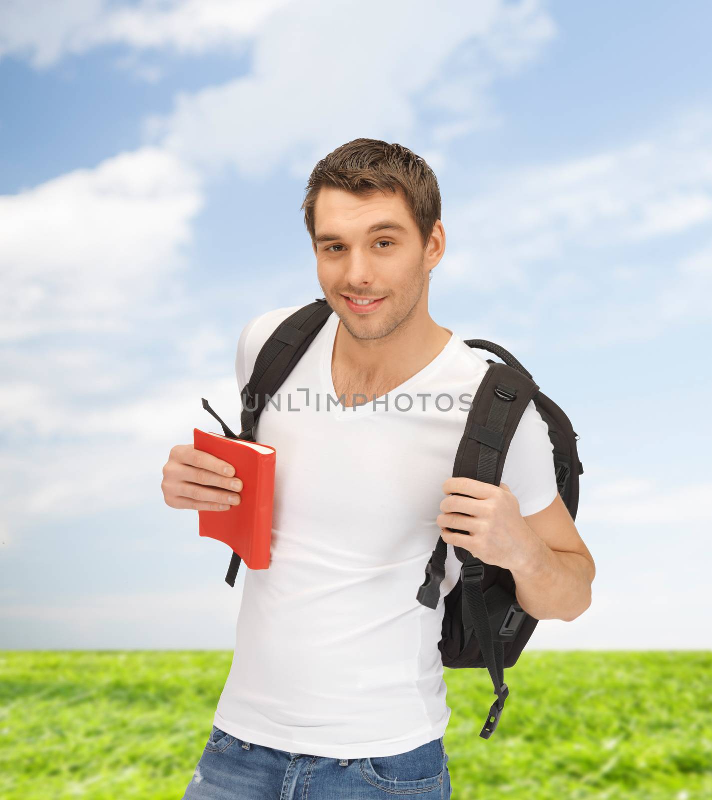
[{"label": "small red book held in the man's hand", "polygon": [[227,511],[198,511],[201,536],[232,547],[251,570],[269,566],[276,450],[261,442],[231,439],[193,428],[193,447],[235,467],[242,481],[240,502]]}]

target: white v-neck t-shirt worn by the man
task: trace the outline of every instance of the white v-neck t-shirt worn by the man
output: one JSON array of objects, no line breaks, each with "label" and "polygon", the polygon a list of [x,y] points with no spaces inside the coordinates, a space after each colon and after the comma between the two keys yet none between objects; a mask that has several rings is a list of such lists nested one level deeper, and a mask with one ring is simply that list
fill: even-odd
[{"label": "white v-neck t-shirt worn by the man", "polygon": [[[269,334],[299,307],[245,326],[240,389]],[[450,718],[438,642],[461,566],[451,545],[437,608],[416,592],[467,405],[489,365],[453,333],[388,395],[344,408],[331,372],[338,324],[332,313],[280,386],[280,410],[268,404],[257,426],[257,441],[276,448],[270,566],[241,566],[233,664],[214,724],[289,753],[367,758],[439,738]],[[555,499],[551,450],[530,402],[502,475],[523,516]]]}]

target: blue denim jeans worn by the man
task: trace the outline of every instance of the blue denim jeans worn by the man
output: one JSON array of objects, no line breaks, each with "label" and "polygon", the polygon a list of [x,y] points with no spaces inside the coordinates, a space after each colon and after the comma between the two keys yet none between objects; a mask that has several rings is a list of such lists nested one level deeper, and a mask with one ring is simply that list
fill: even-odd
[{"label": "blue denim jeans worn by the man", "polygon": [[449,800],[443,737],[398,755],[326,758],[254,745],[213,725],[183,800]]}]

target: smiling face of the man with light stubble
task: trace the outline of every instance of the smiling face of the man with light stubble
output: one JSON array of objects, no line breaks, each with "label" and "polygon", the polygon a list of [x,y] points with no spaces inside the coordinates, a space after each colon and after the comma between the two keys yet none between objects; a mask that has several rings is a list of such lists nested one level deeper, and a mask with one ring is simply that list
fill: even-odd
[{"label": "smiling face of the man with light stubble", "polygon": [[[316,198],[314,220],[317,278],[328,304],[353,337],[387,336],[421,307],[427,309],[428,270],[435,264],[427,254],[430,249],[423,249],[400,190],[362,198],[324,187]],[[385,221],[404,230],[369,230]],[[328,240],[319,241],[324,236]],[[383,299],[354,306],[348,296]]]}]

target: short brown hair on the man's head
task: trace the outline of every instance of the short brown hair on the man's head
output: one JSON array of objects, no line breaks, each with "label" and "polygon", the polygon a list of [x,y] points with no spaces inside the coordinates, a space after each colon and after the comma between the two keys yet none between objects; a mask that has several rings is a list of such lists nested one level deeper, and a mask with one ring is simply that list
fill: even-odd
[{"label": "short brown hair on the man's head", "polygon": [[322,186],[332,186],[353,194],[368,196],[376,191],[400,189],[420,231],[423,247],[428,244],[432,227],[440,219],[440,186],[424,158],[399,144],[380,139],[354,139],[337,147],[317,162],[309,176],[304,209],[304,225],[316,238],[314,206]]}]

